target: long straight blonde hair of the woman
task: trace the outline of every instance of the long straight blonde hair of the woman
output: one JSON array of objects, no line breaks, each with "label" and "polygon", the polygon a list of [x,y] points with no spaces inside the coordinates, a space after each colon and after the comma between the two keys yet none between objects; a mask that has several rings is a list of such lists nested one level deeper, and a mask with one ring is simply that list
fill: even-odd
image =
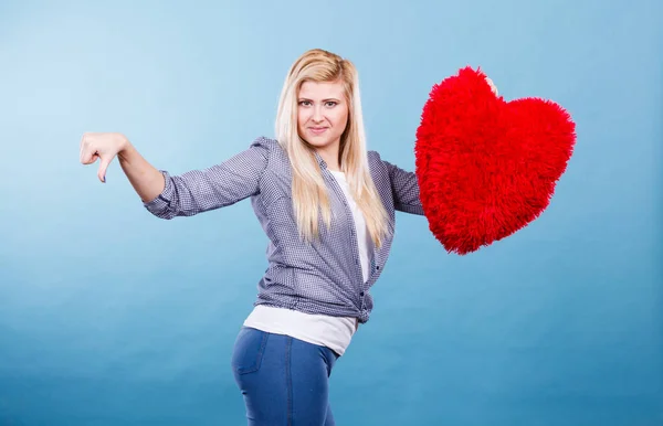
[{"label": "long straight blonde hair of the woman", "polygon": [[276,114],[276,139],[287,152],[293,171],[292,199],[299,236],[308,242],[318,237],[320,213],[327,228],[332,224],[327,187],[319,164],[313,148],[302,139],[297,129],[297,96],[304,82],[343,83],[348,124],[340,137],[340,170],[345,172],[349,191],[364,213],[368,234],[376,247],[380,247],[389,233],[388,216],[368,168],[358,73],[350,61],[320,49],[305,52],[293,63]]}]

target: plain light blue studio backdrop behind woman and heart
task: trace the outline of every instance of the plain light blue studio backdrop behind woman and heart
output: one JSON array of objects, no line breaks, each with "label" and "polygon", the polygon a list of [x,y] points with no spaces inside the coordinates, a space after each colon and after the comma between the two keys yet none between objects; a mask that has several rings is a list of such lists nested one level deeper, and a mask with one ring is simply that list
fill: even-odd
[{"label": "plain light blue studio backdrop behind woman and heart", "polygon": [[[92,3],[92,2],[90,2]],[[241,425],[230,372],[265,268],[249,202],[160,221],[84,131],[158,168],[273,136],[290,64],[360,72],[369,147],[413,170],[432,85],[481,66],[578,143],[551,205],[449,255],[399,214],[333,373],[339,425],[663,425],[663,6],[655,0],[0,2],[0,425]]]}]

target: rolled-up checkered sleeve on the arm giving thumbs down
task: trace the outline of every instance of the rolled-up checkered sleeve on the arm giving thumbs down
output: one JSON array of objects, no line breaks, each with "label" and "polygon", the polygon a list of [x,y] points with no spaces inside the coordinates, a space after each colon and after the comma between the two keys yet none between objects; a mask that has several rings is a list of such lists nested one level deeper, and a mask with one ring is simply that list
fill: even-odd
[{"label": "rolled-up checkered sleeve on the arm giving thumbs down", "polygon": [[160,170],[166,187],[144,206],[155,216],[169,220],[234,204],[260,192],[267,158],[267,147],[255,141],[245,151],[207,169],[180,175]]}]

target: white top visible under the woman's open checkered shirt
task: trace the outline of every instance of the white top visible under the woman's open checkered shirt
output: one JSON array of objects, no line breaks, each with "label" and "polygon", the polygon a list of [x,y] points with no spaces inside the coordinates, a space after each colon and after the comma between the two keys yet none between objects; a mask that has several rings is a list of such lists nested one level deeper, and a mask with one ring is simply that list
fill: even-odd
[{"label": "white top visible under the woman's open checkered shirt", "polygon": [[[368,280],[368,253],[370,247],[370,236],[366,228],[366,221],[355,200],[350,196],[345,174],[339,171],[332,171],[332,174],[336,178],[352,212],[355,228],[357,230],[361,274],[366,283]],[[312,315],[262,305],[254,307],[244,321],[244,327],[291,336],[308,343],[327,347],[339,355],[343,355],[350,344],[352,336],[357,331],[357,319],[351,317]]]}]

